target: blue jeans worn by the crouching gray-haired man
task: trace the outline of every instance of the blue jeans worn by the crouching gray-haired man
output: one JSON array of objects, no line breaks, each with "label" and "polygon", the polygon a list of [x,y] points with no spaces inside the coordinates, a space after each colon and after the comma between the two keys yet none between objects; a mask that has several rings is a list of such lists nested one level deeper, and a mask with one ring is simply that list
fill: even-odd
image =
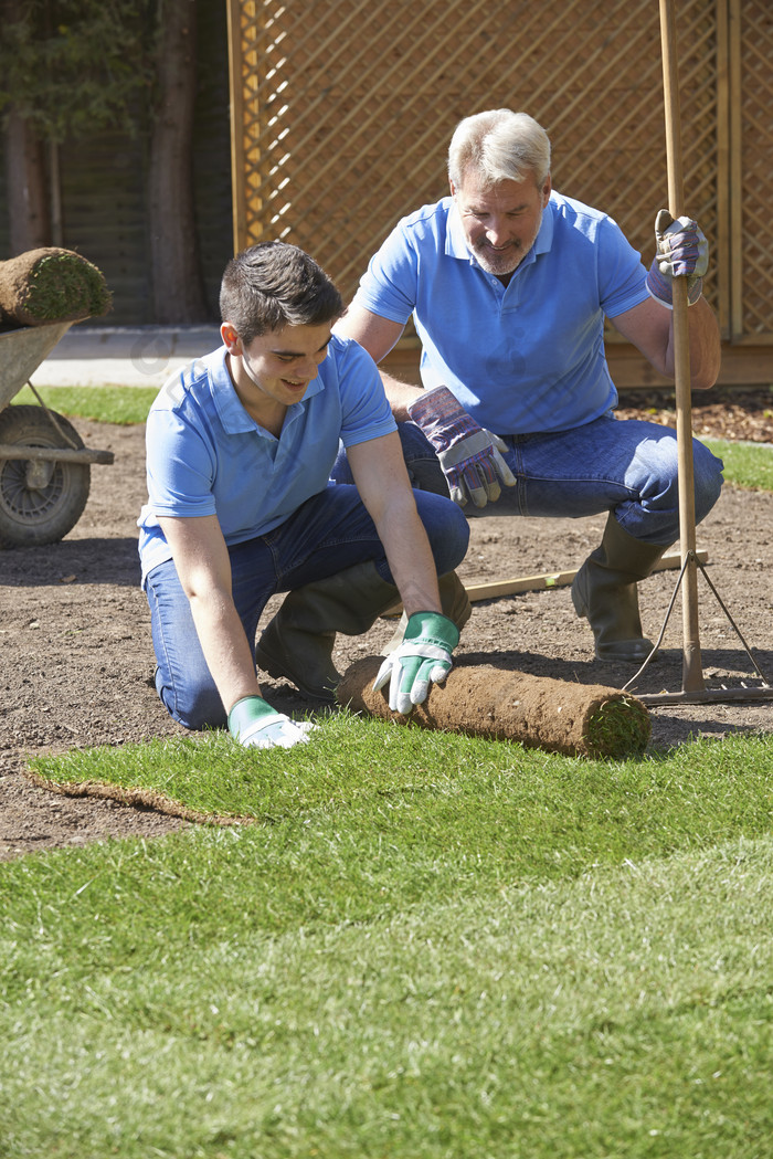
[{"label": "blue jeans worn by the crouching gray-haired man", "polygon": [[[398,424],[403,457],[414,488],[447,495],[437,455],[421,428]],[[618,523],[646,544],[669,546],[679,538],[679,493],[676,431],[611,413],[569,431],[505,435],[504,459],[516,476],[502,487],[496,503],[468,516],[541,516],[579,519],[614,512]],[[716,503],[722,488],[722,461],[693,439],[695,520]],[[351,481],[345,452],[335,461],[335,482]]]}]

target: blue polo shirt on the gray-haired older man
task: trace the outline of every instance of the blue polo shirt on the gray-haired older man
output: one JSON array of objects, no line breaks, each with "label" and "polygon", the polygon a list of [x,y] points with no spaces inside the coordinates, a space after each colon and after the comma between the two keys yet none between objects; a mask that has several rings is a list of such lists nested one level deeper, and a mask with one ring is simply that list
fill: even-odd
[{"label": "blue polo shirt on the gray-haired older man", "polygon": [[424,386],[447,386],[482,427],[560,431],[615,406],[604,316],[647,300],[646,274],[612,218],[554,191],[505,287],[477,264],[444,197],[398,223],[355,301],[401,325],[413,313]]}]

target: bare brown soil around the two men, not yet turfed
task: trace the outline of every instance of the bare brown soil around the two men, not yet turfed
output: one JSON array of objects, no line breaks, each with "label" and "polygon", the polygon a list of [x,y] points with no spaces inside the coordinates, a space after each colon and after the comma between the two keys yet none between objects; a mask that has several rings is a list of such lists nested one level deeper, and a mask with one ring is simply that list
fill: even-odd
[{"label": "bare brown soil around the two men, not yet turfed", "polygon": [[[698,433],[773,443],[768,392],[735,391],[723,396],[714,392],[710,399],[706,404],[693,401]],[[627,393],[623,401],[621,416],[674,423],[672,402],[663,394]],[[145,498],[144,428],[81,420],[75,427],[86,445],[112,450],[115,464],[92,468],[86,510],[63,542],[0,552],[0,860],[108,837],[153,837],[188,824],[150,807],[53,794],[32,785],[24,772],[27,758],[41,753],[119,746],[183,732],[153,687],[150,617],[139,590],[136,519]],[[577,568],[597,545],[604,517],[513,520],[491,513],[471,524],[471,548],[460,568],[468,584]],[[761,671],[773,680],[771,495],[725,487],[698,529],[698,547],[708,552],[713,584]],[[665,571],[642,584],[642,620],[650,636],[659,632],[674,583],[676,573]],[[758,685],[741,641],[702,576],[699,607],[707,686]],[[340,637],[338,668],[378,653],[393,629],[394,621],[380,620],[364,637]],[[664,654],[634,692],[683,687],[681,641],[678,597]],[[622,687],[633,676],[628,666],[593,658],[590,629],[576,618],[568,588],[476,603],[459,651],[468,663],[581,684]],[[267,679],[264,691],[283,712],[312,707],[283,681]],[[712,700],[657,706],[650,713],[652,750],[698,736],[721,739],[731,732],[773,732],[773,702]]]}]

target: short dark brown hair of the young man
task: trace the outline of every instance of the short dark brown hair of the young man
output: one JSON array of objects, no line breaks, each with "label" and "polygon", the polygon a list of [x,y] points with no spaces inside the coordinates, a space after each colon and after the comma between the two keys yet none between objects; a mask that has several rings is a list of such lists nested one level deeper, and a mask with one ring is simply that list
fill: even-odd
[{"label": "short dark brown hair of the young man", "polygon": [[324,270],[298,246],[261,241],[232,257],[220,283],[220,318],[249,345],[285,326],[321,326],[343,313]]}]

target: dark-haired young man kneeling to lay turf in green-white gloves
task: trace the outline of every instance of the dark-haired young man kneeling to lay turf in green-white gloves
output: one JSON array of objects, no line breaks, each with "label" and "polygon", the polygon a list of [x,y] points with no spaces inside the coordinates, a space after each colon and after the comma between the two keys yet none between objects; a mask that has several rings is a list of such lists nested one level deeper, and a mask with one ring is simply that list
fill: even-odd
[{"label": "dark-haired young man kneeling to lay turf in green-white gloves", "polygon": [[[170,379],[148,415],[143,585],[156,688],[187,728],[227,721],[262,748],[307,739],[257,680],[258,618],[276,592],[289,595],[257,663],[308,695],[334,699],[335,633],[366,632],[398,599],[408,629],[379,673],[391,706],[410,712],[451,668],[469,617],[453,573],[466,520],[447,498],[414,496],[372,359],[330,333],[341,309],[302,250],[245,250],[223,277],[223,347]],[[351,487],[328,486],[340,440]]]}]

